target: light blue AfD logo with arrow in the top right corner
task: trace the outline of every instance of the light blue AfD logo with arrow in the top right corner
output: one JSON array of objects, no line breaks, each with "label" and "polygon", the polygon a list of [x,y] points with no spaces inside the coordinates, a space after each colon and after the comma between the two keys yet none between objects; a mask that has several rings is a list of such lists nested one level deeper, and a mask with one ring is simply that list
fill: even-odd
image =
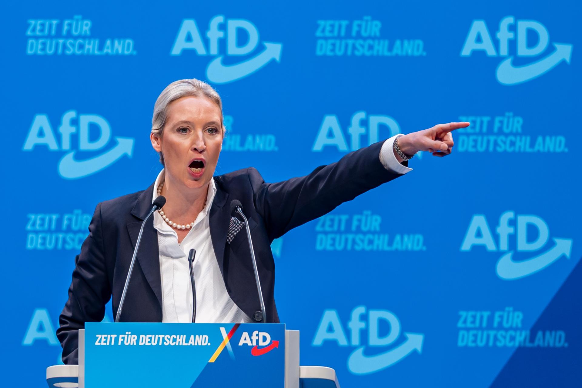
[{"label": "light blue AfD logo with arrow in the top right corner", "polygon": [[[513,16],[504,17],[499,22],[494,38],[489,33],[485,20],[473,20],[465,39],[461,56],[471,56],[474,51],[484,51],[487,56],[500,56],[496,77],[502,85],[517,85],[549,72],[562,62],[570,63],[572,44],[552,42],[550,47],[548,29],[535,20],[517,20]],[[512,49],[512,46],[515,46]],[[552,48],[550,47],[550,48]],[[523,58],[520,65],[515,58]]]}]

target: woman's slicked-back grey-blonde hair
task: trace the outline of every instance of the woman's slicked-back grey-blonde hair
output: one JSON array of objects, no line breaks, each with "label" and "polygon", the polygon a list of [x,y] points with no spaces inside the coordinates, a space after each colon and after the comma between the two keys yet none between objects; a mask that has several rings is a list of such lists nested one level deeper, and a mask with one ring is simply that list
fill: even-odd
[{"label": "woman's slicked-back grey-blonde hair", "polygon": [[[222,115],[222,99],[212,86],[195,78],[173,81],[162,90],[158,99],[155,100],[154,116],[152,116],[151,119],[151,133],[156,137],[162,136],[166,119],[168,118],[168,106],[172,101],[176,101],[176,99],[186,96],[206,97],[218,105],[218,108],[220,108],[221,111],[222,135],[224,136],[226,129],[224,126],[224,117]],[[162,165],[164,164],[164,156],[161,152],[159,154],[159,161]]]}]

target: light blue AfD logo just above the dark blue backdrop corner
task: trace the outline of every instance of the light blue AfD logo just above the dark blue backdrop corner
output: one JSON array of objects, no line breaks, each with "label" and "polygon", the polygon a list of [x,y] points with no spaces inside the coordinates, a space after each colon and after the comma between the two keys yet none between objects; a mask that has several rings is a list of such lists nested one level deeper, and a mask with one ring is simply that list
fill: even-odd
[{"label": "light blue AfD logo just above the dark blue backdrop corner", "polygon": [[[531,232],[535,230],[536,236]],[[471,218],[469,228],[465,234],[462,252],[470,252],[475,246],[482,246],[488,252],[496,252],[499,257],[496,265],[497,276],[503,280],[521,279],[548,267],[561,257],[570,258],[572,239],[554,237],[553,245],[544,248],[549,241],[548,224],[535,215],[517,215],[513,211],[506,211],[499,217],[498,244],[487,219],[482,214]],[[510,236],[516,237],[515,249],[510,250]],[[499,256],[499,252],[503,252]],[[519,261],[514,259],[514,252],[522,253]]]}]

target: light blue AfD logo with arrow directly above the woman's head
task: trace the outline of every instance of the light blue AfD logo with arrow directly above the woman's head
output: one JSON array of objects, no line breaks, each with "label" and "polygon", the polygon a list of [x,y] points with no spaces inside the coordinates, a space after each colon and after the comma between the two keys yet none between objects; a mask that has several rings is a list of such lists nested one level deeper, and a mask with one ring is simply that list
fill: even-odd
[{"label": "light blue AfD logo with arrow directly above the woman's head", "polygon": [[[226,52],[220,40],[226,42]],[[204,41],[207,40],[207,44]],[[200,56],[215,56],[206,68],[206,78],[214,84],[226,84],[250,76],[272,60],[281,60],[283,45],[262,42],[264,49],[252,54],[259,46],[257,27],[244,19],[225,19],[223,15],[212,17],[208,30],[200,34],[196,20],[184,19],[176,35],[170,55],[182,55],[184,50],[194,50]],[[236,63],[225,65],[225,56],[244,57]]]}]

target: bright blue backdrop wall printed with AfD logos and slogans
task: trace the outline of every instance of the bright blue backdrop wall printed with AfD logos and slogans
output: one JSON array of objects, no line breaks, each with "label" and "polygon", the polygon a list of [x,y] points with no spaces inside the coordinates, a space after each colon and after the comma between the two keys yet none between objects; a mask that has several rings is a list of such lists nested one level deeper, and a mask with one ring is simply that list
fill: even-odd
[{"label": "bright blue backdrop wall printed with AfD logos and slogans", "polygon": [[196,77],[223,98],[217,175],[284,180],[392,134],[471,122],[453,155],[417,155],[406,176],[274,242],[301,364],[347,387],[579,386],[578,3],[216,4],[5,13],[8,382],[42,386],[59,361],[93,209],[154,181],[154,101]]}]

